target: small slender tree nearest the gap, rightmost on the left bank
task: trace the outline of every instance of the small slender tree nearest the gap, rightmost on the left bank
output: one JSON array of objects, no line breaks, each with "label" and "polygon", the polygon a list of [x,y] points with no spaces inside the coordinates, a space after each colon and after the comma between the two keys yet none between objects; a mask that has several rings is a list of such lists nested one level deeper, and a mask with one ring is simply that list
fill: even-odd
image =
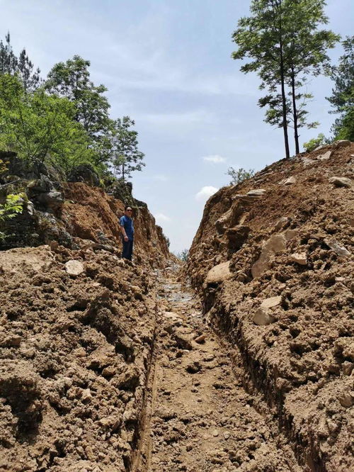
[{"label": "small slender tree nearest the gap, rightmost on the left bank", "polygon": [[115,176],[123,180],[130,177],[134,171],[141,171],[145,166],[142,159],[144,154],[138,150],[137,131],[130,127],[135,121],[129,116],[123,116],[113,121],[111,128],[111,164]]}]

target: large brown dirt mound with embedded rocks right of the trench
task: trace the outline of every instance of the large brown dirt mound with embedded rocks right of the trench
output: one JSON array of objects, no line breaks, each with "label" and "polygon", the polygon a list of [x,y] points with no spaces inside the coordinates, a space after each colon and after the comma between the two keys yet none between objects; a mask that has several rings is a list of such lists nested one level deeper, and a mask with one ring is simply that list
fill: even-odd
[{"label": "large brown dirt mound with embedded rocks right of the trench", "polygon": [[304,470],[354,466],[353,163],[338,142],[221,189],[188,259],[207,319],[241,349],[244,384]]}]

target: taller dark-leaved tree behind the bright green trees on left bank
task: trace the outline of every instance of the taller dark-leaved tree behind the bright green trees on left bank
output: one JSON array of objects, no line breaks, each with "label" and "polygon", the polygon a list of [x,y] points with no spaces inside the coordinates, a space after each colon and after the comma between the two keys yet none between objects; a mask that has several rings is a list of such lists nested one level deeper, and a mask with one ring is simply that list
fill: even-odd
[{"label": "taller dark-leaved tree behind the bright green trees on left bank", "polygon": [[45,89],[72,101],[74,119],[83,125],[92,140],[98,140],[108,126],[110,104],[103,95],[104,85],[95,86],[90,79],[90,61],[75,55],[67,62],[58,62],[50,70]]}]

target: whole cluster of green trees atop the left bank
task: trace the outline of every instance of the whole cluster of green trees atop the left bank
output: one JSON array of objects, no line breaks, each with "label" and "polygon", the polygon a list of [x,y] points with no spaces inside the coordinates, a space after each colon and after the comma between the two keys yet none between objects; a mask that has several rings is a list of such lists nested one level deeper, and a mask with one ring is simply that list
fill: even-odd
[{"label": "whole cluster of green trees atop the left bank", "polygon": [[75,55],[40,79],[23,50],[13,53],[10,35],[0,42],[0,150],[28,164],[48,162],[68,177],[91,164],[102,178],[123,181],[144,167],[134,120],[113,120],[103,84],[90,79],[90,62]]}]

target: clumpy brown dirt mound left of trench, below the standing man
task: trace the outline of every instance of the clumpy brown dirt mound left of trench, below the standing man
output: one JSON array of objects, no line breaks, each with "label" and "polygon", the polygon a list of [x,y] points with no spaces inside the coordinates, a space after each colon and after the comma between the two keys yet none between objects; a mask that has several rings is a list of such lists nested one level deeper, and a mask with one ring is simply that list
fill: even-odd
[{"label": "clumpy brown dirt mound left of trench, below the standing man", "polygon": [[1,471],[129,468],[154,339],[152,276],[93,247],[0,252]]}]

